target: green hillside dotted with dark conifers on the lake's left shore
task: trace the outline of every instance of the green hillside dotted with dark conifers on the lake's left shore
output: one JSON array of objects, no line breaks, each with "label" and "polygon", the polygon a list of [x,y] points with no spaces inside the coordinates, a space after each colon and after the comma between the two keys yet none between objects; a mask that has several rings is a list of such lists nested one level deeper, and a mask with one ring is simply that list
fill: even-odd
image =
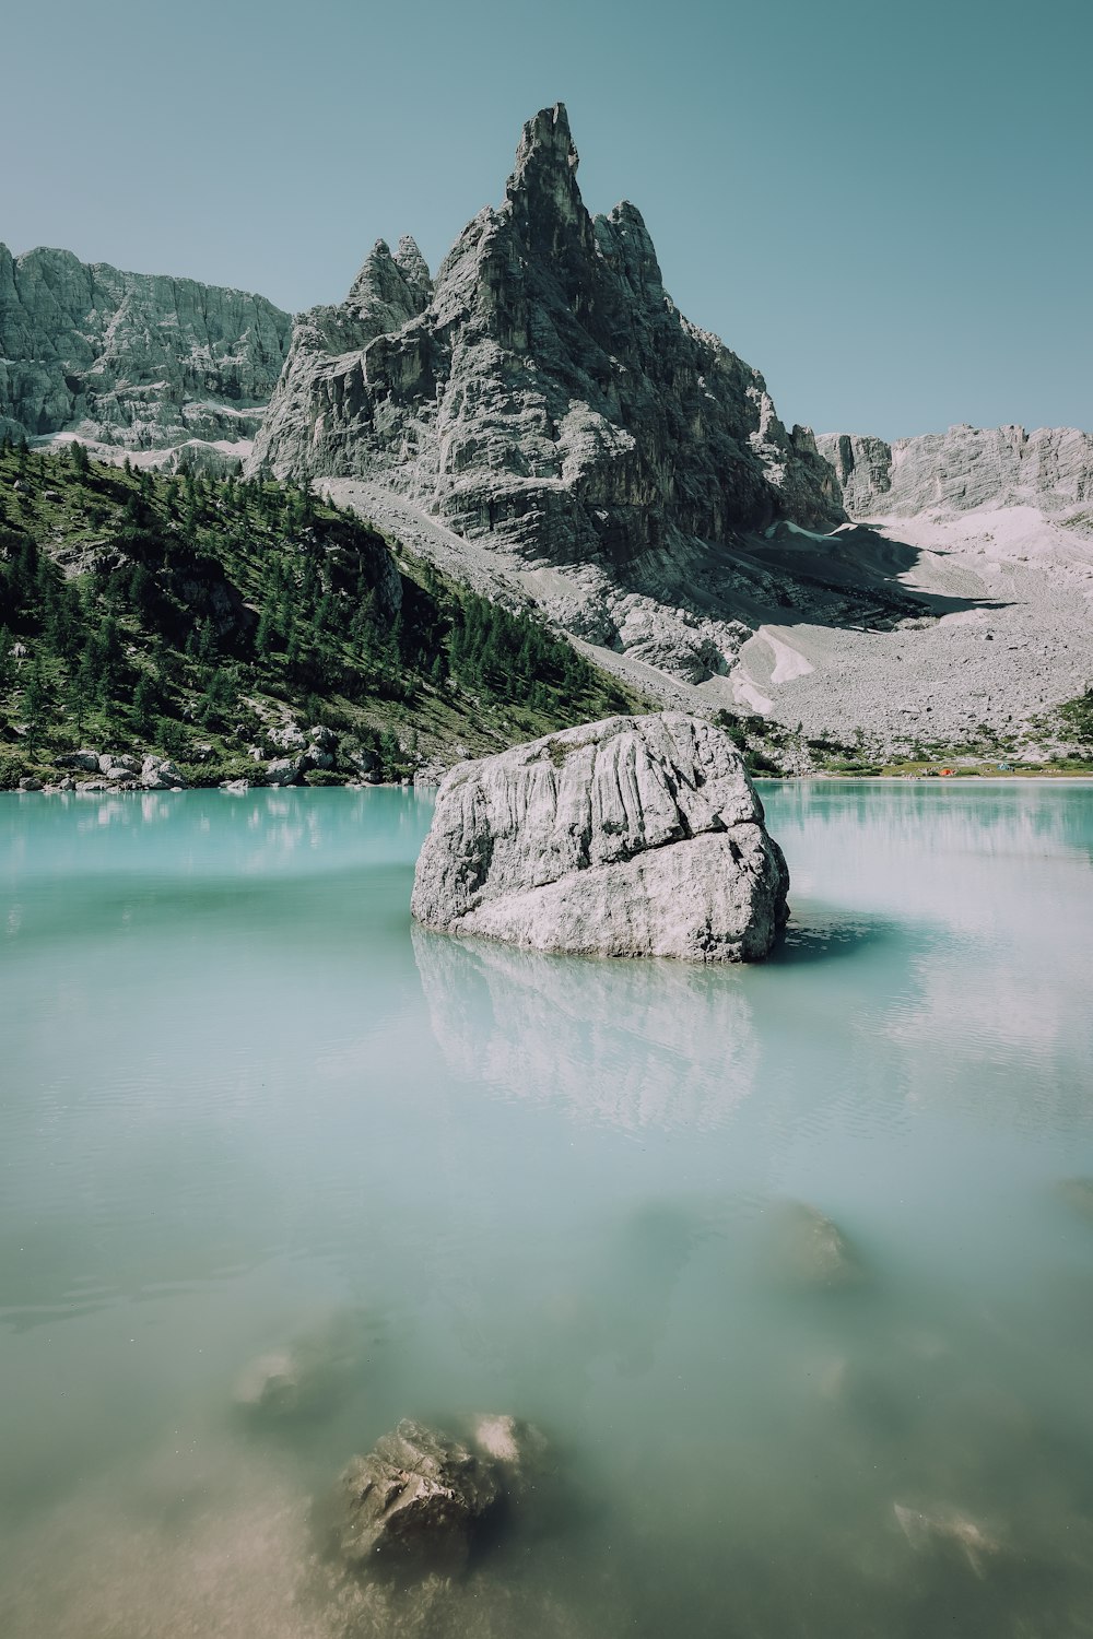
[{"label": "green hillside dotted with dark conifers on the lake's left shore", "polygon": [[636,705],[546,626],[303,490],[0,449],[2,785],[80,746],[254,779],[249,747],[277,756],[288,718],[397,779]]}]

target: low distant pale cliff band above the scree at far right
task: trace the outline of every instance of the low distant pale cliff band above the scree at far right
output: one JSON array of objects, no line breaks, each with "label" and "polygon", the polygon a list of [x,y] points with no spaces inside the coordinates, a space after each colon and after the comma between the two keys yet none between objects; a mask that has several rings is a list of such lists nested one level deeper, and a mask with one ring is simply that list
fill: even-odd
[{"label": "low distant pale cliff band above the scree at far right", "polygon": [[1060,513],[1093,498],[1093,436],[1054,426],[950,426],[885,444],[824,433],[816,439],[852,518],[932,510],[1037,506]]}]

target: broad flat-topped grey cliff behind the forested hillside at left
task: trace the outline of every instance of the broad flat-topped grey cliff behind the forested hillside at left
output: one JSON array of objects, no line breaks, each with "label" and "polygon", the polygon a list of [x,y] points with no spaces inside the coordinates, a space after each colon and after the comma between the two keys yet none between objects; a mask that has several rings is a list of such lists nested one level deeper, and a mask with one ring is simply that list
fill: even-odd
[{"label": "broad flat-topped grey cliff behind the forested hillside at left", "polygon": [[0,423],[15,436],[252,439],[290,336],[264,297],[0,244]]}]

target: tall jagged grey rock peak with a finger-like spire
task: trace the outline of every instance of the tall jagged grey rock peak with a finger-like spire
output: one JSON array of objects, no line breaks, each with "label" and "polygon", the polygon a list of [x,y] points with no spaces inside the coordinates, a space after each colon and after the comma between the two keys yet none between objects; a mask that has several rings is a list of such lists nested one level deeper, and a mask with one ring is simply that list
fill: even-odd
[{"label": "tall jagged grey rock peak with a finger-like spire", "polygon": [[564,107],[436,274],[380,241],[305,313],[251,467],[382,479],[529,559],[626,564],[683,538],[844,513],[811,433],[683,318],[634,205],[590,216]]}]

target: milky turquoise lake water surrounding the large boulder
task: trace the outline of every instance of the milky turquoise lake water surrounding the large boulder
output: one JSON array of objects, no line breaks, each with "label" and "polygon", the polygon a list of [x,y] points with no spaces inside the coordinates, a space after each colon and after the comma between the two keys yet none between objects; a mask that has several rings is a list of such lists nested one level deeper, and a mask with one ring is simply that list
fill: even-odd
[{"label": "milky turquoise lake water surrounding the large boulder", "polygon": [[[408,792],[0,800],[5,1639],[1093,1632],[1093,787],[764,800],[746,970],[411,929]],[[472,1411],[549,1518],[339,1575]]]}]

